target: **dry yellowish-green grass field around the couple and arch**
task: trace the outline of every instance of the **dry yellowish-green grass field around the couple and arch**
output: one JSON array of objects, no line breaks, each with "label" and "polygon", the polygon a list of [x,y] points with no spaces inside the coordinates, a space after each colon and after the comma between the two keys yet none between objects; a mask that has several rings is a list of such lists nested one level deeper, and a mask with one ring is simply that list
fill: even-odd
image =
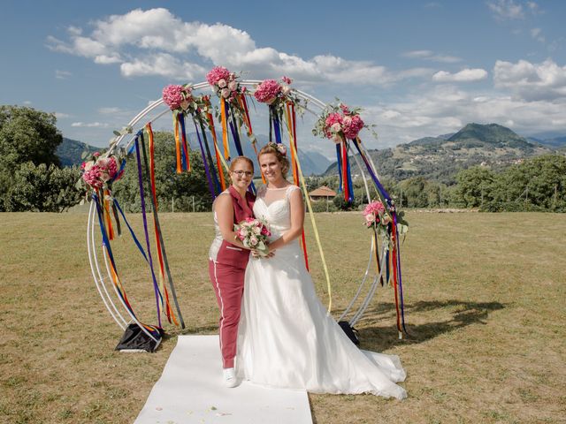
[{"label": "dry yellowish-green grass field around the couple and arch", "polygon": [[[141,217],[131,218],[142,237]],[[113,350],[121,330],[90,276],[87,216],[0,219],[1,422],[132,422],[175,336],[217,331],[206,268],[209,214],[161,216],[187,329],[165,325],[158,352],[137,355]],[[364,349],[401,356],[409,398],[310,395],[315,422],[566,422],[566,215],[409,212],[408,219],[402,261],[410,337],[396,337],[390,289],[379,289],[358,327]],[[335,316],[365,269],[369,233],[361,221],[358,214],[317,215]],[[134,309],[155,322],[141,255],[127,235],[114,245]]]}]

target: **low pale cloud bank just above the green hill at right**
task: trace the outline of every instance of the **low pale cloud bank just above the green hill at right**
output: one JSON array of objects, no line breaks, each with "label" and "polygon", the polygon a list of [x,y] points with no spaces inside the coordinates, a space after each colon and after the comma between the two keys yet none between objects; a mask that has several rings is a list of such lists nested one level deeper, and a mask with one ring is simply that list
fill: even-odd
[{"label": "low pale cloud bank just above the green hill at right", "polygon": [[364,119],[377,125],[379,142],[365,137],[370,148],[392,147],[425,136],[454,133],[470,122],[507,125],[516,133],[566,132],[566,98],[529,102],[510,95],[468,92],[441,85],[399,102],[369,106]]}]

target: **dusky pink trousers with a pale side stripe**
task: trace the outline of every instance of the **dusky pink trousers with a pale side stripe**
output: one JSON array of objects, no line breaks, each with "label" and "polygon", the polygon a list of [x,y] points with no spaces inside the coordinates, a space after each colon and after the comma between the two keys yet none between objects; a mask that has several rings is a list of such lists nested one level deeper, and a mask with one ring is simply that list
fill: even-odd
[{"label": "dusky pink trousers with a pale side stripe", "polygon": [[245,273],[246,269],[237,269],[209,260],[210,282],[216,292],[220,308],[220,352],[222,352],[222,364],[225,368],[233,367],[233,359],[236,356]]}]

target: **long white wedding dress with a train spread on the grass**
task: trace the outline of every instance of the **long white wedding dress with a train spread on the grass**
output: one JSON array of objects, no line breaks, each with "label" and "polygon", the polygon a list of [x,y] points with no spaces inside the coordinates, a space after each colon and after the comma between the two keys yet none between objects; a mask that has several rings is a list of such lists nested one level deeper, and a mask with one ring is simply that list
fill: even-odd
[{"label": "long white wedding dress with a train spread on the grass", "polygon": [[[290,228],[289,194],[260,187],[257,218],[279,239]],[[326,313],[305,268],[298,239],[266,259],[250,257],[238,332],[238,376],[314,393],[372,393],[406,398],[397,356],[359,350]]]}]

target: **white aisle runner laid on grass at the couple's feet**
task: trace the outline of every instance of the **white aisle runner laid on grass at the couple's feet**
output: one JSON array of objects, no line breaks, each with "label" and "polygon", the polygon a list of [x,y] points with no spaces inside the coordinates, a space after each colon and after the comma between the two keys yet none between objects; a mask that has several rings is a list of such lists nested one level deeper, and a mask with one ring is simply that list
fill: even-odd
[{"label": "white aisle runner laid on grass at the couple's feet", "polygon": [[304,390],[224,386],[218,336],[180,336],[134,424],[311,424]]}]

